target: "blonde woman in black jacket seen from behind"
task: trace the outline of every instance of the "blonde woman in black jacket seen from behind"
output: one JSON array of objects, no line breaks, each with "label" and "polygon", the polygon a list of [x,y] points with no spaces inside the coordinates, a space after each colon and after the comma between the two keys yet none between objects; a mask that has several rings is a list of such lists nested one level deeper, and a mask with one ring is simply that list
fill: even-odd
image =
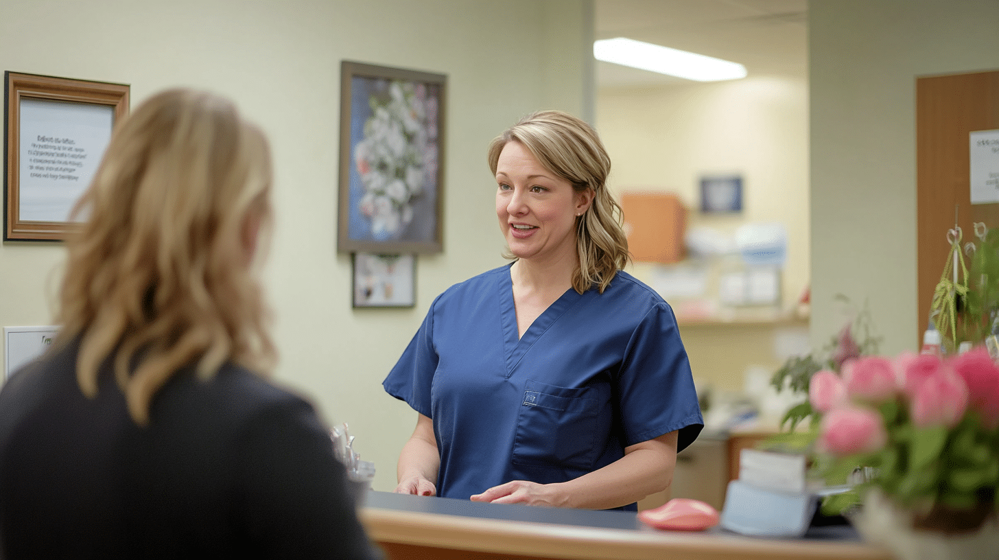
[{"label": "blonde woman in black jacket seen from behind", "polygon": [[168,90],[115,127],[56,344],[0,392],[0,557],[377,558],[329,431],[266,381],[263,132]]}]

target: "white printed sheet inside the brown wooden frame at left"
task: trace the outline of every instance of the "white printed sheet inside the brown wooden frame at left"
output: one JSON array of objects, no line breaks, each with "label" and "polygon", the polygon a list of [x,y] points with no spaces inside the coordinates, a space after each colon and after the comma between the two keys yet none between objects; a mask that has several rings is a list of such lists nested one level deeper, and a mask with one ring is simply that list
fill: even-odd
[{"label": "white printed sheet inside the brown wooden frame at left", "polygon": [[20,219],[69,221],[111,140],[111,105],[21,99]]}]

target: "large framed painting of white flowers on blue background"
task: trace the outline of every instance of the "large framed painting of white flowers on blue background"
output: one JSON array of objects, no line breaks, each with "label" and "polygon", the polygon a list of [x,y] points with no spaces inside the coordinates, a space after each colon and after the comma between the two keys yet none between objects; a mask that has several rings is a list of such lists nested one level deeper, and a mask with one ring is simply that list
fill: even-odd
[{"label": "large framed painting of white flowers on blue background", "polygon": [[341,63],[337,250],[440,253],[447,76]]}]

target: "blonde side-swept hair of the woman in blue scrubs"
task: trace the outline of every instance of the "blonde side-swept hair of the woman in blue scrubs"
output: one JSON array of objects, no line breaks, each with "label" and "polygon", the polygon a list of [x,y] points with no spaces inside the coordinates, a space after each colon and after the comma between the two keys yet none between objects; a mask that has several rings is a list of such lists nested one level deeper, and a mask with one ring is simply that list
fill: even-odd
[{"label": "blonde side-swept hair of the woman in blue scrubs", "polygon": [[[575,219],[578,262],[572,287],[580,294],[591,287],[600,293],[630,260],[621,226],[621,207],[606,189],[610,158],[596,131],[561,111],[539,111],[520,119],[490,143],[490,170],[496,175],[507,142],[523,144],[537,161],[568,181],[576,192],[592,189],[593,202]],[[513,258],[512,254],[504,255]]]}]

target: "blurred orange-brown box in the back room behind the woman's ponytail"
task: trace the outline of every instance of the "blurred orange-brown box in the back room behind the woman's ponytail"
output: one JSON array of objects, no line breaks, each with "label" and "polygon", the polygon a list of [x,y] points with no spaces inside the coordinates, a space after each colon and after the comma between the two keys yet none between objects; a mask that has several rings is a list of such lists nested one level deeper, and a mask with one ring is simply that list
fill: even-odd
[{"label": "blurred orange-brown box in the back room behind the woman's ponytail", "polygon": [[621,194],[627,246],[636,261],[674,263],[683,259],[686,208],[672,193]]}]

